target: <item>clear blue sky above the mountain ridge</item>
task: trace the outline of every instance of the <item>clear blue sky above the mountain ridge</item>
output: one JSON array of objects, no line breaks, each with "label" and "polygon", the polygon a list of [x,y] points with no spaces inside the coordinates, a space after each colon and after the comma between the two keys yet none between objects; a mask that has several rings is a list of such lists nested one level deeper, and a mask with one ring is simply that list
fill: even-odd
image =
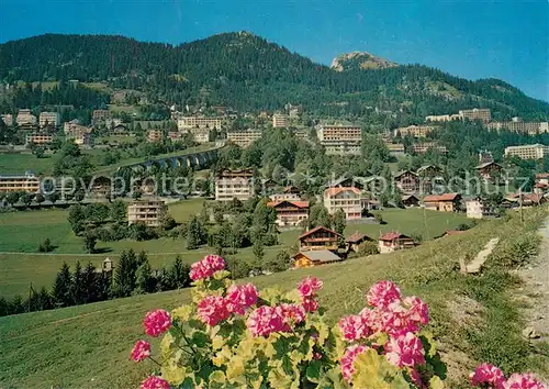
[{"label": "clear blue sky above the mountain ridge", "polygon": [[326,65],[369,52],[549,101],[547,0],[0,0],[0,42],[70,33],[179,44],[243,30]]}]

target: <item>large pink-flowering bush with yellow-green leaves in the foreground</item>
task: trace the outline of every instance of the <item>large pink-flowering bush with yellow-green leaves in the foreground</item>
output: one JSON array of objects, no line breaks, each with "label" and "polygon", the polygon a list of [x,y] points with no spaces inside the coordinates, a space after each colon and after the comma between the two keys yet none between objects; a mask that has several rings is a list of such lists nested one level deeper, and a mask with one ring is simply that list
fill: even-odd
[{"label": "large pink-flowering bush with yellow-green leaves in the foreground", "polygon": [[[160,376],[142,388],[441,388],[446,367],[428,323],[427,305],[382,281],[367,293],[368,307],[324,322],[317,291],[306,278],[298,289],[258,291],[236,286],[223,258],[191,266],[192,303],[168,313],[148,312],[145,332],[160,342]],[[132,358],[150,356],[138,341]]]}]

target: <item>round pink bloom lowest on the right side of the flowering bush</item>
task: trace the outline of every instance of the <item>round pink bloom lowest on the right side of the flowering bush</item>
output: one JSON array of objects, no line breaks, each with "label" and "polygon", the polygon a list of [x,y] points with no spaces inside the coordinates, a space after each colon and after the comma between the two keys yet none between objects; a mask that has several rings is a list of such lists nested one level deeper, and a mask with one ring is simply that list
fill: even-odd
[{"label": "round pink bloom lowest on the right side of the flowering bush", "polygon": [[399,337],[392,337],[385,344],[385,358],[397,367],[414,367],[425,365],[425,351],[422,341],[408,332]]}]

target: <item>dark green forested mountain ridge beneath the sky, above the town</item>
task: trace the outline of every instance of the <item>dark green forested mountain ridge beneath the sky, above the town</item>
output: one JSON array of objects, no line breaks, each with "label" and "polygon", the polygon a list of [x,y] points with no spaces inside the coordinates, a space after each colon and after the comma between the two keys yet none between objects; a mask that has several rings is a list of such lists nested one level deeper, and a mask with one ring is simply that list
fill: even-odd
[{"label": "dark green forested mountain ridge beneath the sky, above the town", "polygon": [[491,108],[496,120],[549,116],[547,102],[501,80],[469,81],[421,65],[336,71],[249,33],[179,46],[108,35],[35,36],[0,45],[0,79],[107,80],[170,103],[272,110],[291,102],[325,114],[393,112],[404,122],[474,107]]}]

